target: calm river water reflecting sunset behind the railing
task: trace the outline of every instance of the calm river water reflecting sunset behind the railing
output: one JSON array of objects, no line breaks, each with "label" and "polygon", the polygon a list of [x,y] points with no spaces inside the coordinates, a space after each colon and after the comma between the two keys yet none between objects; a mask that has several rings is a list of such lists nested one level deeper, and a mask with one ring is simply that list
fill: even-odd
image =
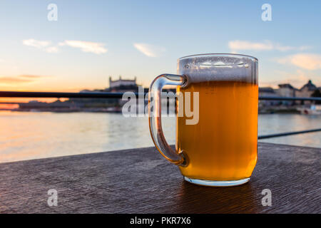
[{"label": "calm river water reflecting sunset behind the railing", "polygon": [[[321,115],[259,115],[259,135],[321,128]],[[175,143],[175,118],[163,118],[168,143]],[[321,133],[260,140],[321,147]],[[0,162],[153,146],[147,117],[118,113],[0,112]]]}]

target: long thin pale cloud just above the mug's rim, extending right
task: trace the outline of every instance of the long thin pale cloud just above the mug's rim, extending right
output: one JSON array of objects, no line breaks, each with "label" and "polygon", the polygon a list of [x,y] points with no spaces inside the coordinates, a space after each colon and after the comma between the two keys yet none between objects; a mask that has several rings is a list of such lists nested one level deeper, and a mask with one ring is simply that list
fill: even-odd
[{"label": "long thin pale cloud just above the mug's rim, extending right", "polygon": [[252,50],[252,51],[302,51],[310,48],[309,46],[283,46],[280,43],[272,43],[272,41],[263,41],[263,42],[251,42],[251,41],[229,41],[228,47],[231,51],[236,52],[240,50]]}]

